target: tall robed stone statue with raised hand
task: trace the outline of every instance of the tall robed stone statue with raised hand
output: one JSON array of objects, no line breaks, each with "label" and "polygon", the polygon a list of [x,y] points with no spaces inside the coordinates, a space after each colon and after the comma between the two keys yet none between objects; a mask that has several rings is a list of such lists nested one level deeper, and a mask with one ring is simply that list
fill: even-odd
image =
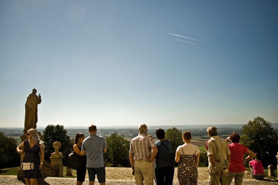
[{"label": "tall robed stone statue with raised hand", "polygon": [[38,104],[41,103],[41,93],[39,97],[36,95],[37,90],[33,89],[32,93],[27,97],[25,103],[25,121],[23,135],[31,128],[36,129],[38,122]]}]

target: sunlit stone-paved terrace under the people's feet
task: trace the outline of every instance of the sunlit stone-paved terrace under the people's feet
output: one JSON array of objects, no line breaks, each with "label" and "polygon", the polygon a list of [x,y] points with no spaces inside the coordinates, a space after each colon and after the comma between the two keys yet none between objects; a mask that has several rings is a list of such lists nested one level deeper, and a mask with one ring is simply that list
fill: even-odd
[{"label": "sunlit stone-paved terrace under the people's feet", "polygon": [[[106,167],[106,184],[107,185],[136,185],[135,178],[131,175],[131,168],[114,168]],[[178,185],[177,168],[175,168],[174,185]],[[74,173],[74,171],[73,171]],[[16,175],[0,175],[0,185],[23,185],[24,183],[17,180]],[[75,185],[76,178],[61,178],[61,177],[46,177],[45,179],[38,179],[39,185]],[[86,179],[83,185],[88,185],[89,179],[86,174]],[[95,184],[99,184],[96,178]],[[154,183],[155,184],[155,183]],[[207,167],[198,168],[198,185],[208,185],[208,172]],[[234,182],[232,182],[234,184]],[[244,185],[273,185],[278,184],[278,180],[264,180],[252,179],[250,171],[245,171],[243,180]]]}]

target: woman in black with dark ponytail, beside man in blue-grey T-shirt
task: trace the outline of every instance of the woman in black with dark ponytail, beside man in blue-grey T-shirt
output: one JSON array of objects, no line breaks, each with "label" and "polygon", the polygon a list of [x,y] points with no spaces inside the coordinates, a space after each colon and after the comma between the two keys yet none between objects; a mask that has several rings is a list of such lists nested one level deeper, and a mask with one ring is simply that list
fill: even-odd
[{"label": "woman in black with dark ponytail, beside man in blue-grey T-shirt", "polygon": [[81,164],[81,168],[76,170],[76,176],[77,181],[76,185],[82,185],[85,181],[85,175],[86,175],[86,163],[87,163],[87,156],[81,155],[81,145],[83,140],[85,139],[84,134],[77,133],[75,135],[74,145],[73,145],[73,151],[78,154],[79,157],[84,158],[83,163]]}]

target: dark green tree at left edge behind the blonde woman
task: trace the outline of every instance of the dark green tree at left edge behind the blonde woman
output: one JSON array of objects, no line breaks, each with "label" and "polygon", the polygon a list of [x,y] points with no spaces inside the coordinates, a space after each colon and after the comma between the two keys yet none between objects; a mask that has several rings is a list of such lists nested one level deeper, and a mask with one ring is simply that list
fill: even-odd
[{"label": "dark green tree at left edge behind the blonde woman", "polygon": [[20,154],[17,153],[17,140],[4,136],[0,132],[0,168],[10,168],[20,165]]}]

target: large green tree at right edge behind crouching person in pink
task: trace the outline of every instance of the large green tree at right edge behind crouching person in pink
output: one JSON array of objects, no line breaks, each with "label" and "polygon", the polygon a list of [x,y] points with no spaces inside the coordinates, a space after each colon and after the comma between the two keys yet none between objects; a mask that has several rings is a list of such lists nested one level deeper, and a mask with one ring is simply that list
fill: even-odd
[{"label": "large green tree at right edge behind crouching person in pink", "polygon": [[241,128],[240,144],[257,154],[263,166],[277,165],[278,135],[272,123],[257,116]]}]

